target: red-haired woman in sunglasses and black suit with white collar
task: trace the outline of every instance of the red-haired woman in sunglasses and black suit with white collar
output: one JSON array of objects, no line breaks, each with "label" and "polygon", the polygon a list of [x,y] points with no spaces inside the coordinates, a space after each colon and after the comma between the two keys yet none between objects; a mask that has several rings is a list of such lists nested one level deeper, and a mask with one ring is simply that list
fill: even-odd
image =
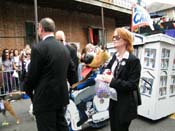
[{"label": "red-haired woman in sunglasses and black suit with white collar", "polygon": [[125,28],[116,28],[112,41],[116,53],[107,65],[112,73],[105,73],[103,80],[117,98],[110,99],[109,114],[111,131],[128,131],[131,121],[137,117],[139,99],[140,60],[132,54],[133,35]]}]

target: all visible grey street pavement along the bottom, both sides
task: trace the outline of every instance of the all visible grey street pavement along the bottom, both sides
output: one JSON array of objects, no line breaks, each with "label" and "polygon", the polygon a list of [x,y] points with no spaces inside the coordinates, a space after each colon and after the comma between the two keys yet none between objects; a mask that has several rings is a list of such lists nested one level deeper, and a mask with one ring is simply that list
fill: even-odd
[{"label": "all visible grey street pavement along the bottom, both sides", "polygon": [[[37,131],[35,120],[29,115],[30,100],[18,100],[12,102],[12,106],[20,117],[21,123],[17,125],[15,120],[7,113],[8,126],[0,126],[0,131]],[[0,114],[0,123],[5,118]],[[103,128],[86,128],[83,131],[110,131],[109,124]],[[152,121],[143,117],[135,119],[130,126],[130,131],[175,131],[175,120],[170,117],[158,121]]]}]

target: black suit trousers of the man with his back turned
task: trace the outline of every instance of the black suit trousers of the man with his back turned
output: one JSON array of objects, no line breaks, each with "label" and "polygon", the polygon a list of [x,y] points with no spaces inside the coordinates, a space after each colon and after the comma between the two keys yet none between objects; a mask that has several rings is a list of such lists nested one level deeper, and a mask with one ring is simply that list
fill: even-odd
[{"label": "black suit trousers of the man with his back turned", "polygon": [[64,115],[64,108],[35,113],[38,131],[69,131]]}]

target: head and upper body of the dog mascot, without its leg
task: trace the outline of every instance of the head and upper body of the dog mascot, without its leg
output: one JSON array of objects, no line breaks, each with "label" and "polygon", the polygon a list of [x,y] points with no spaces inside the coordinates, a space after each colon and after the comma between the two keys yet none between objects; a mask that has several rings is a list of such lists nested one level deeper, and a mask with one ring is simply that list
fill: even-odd
[{"label": "head and upper body of the dog mascot, without its leg", "polygon": [[93,44],[86,45],[83,56],[85,67],[81,75],[84,79],[72,85],[72,88],[78,90],[95,84],[96,70],[104,65],[109,58],[109,54],[105,49],[101,49]]}]

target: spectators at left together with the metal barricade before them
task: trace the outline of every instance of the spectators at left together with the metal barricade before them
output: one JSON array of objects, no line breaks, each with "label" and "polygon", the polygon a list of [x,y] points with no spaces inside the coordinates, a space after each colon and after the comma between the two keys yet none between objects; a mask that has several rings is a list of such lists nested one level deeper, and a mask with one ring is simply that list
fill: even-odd
[{"label": "spectators at left together with the metal barricade before them", "polygon": [[24,49],[3,49],[1,70],[3,88],[1,94],[14,90],[23,90],[22,83],[28,71],[31,48],[26,45]]}]

